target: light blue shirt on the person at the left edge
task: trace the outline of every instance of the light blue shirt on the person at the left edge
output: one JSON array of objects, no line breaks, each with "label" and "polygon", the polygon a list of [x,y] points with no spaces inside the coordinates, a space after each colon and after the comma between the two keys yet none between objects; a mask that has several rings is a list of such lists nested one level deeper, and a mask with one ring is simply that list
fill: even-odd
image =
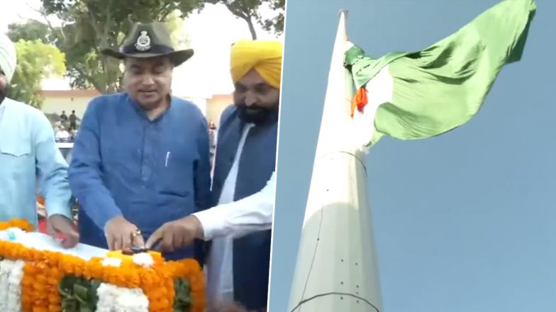
[{"label": "light blue shirt on the person at the left edge", "polygon": [[9,98],[0,114],[0,221],[27,219],[37,229],[38,190],[49,216],[71,218],[67,163],[46,116]]}]

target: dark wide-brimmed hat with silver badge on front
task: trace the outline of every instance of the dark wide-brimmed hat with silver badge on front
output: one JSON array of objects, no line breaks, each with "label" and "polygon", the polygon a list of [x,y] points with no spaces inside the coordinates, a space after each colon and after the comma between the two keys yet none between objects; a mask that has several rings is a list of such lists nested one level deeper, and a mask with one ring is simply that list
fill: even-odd
[{"label": "dark wide-brimmed hat with silver badge on front", "polygon": [[193,56],[193,49],[174,50],[165,23],[155,22],[135,23],[119,51],[104,49],[101,53],[116,59],[167,56],[174,66],[179,66]]}]

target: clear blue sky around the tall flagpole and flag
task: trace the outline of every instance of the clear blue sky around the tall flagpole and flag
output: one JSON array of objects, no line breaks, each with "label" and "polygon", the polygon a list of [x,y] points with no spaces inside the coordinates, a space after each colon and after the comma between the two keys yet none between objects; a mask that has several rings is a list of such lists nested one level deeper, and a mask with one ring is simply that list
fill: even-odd
[{"label": "clear blue sky around the tall flagpole and flag", "polygon": [[[338,11],[374,57],[421,50],[496,0],[288,0],[270,311],[287,311]],[[556,1],[467,125],[367,157],[384,312],[556,308]],[[346,225],[347,226],[347,225]]]}]

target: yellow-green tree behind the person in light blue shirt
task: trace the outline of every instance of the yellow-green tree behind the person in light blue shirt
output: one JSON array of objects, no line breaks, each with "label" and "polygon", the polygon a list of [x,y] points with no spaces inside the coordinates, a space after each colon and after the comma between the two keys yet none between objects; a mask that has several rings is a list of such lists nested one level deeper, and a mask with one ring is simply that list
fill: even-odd
[{"label": "yellow-green tree behind the person in light blue shirt", "polygon": [[[15,37],[14,33],[11,33]],[[22,35],[22,37],[33,35]],[[7,96],[36,108],[43,104],[40,96],[43,80],[51,76],[63,76],[66,71],[65,55],[54,45],[41,40],[24,40],[16,42],[18,64],[11,79]]]}]

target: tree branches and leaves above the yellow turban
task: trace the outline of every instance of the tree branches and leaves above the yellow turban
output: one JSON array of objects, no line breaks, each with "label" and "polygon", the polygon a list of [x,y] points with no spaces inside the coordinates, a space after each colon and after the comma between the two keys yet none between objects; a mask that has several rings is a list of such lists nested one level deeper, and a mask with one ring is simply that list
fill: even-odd
[{"label": "tree branches and leaves above the yellow turban", "polygon": [[[257,39],[255,23],[259,23],[263,29],[277,35],[284,32],[285,0],[206,0],[205,2],[225,5],[234,16],[247,23],[253,40]],[[264,6],[274,11],[277,16],[263,18],[260,11]]]}]

